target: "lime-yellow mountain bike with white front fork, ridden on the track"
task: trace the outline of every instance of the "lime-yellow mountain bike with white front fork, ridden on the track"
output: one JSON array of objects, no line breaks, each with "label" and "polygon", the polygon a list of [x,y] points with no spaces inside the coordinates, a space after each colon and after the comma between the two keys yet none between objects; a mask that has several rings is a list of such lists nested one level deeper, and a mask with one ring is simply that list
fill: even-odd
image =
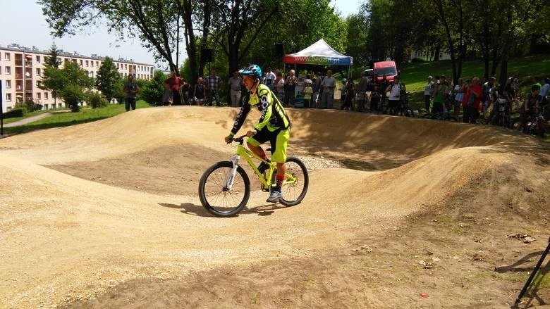
[{"label": "lime-yellow mountain bike with white front fork, ridden on the track", "polygon": [[[275,187],[276,164],[257,156],[243,146],[246,135],[233,137],[238,143],[237,152],[231,160],[220,161],[209,167],[200,178],[199,198],[202,206],[217,217],[230,217],[245,208],[250,198],[250,179],[239,165],[241,157],[250,165],[261,183],[262,191],[271,191]],[[270,151],[270,149],[267,149]],[[269,170],[260,173],[252,161],[256,158],[267,163]],[[286,158],[285,179],[281,186],[283,198],[279,200],[283,206],[295,206],[302,202],[309,186],[309,175],[305,164],[296,157]]]}]

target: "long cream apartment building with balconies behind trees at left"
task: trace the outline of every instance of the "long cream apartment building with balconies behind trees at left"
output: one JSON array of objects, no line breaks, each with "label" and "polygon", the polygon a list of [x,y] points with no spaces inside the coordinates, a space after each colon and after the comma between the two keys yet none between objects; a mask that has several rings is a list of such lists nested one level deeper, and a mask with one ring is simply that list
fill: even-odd
[{"label": "long cream apartment building with balconies behind trees at left", "polygon": [[[42,104],[44,109],[61,108],[63,101],[54,98],[47,90],[39,86],[42,83],[44,63],[49,56],[49,51],[40,51],[35,46],[25,47],[11,44],[6,47],[0,45],[0,80],[2,81],[2,96],[4,97],[3,112],[11,111],[17,102],[32,100]],[[88,73],[90,77],[96,77],[104,57],[92,55],[84,56],[74,51],[68,53],[60,51],[59,59],[63,63],[72,61]],[[124,58],[113,58],[114,65],[118,68],[121,77],[133,74],[136,79],[151,80],[153,77],[153,65],[147,63],[135,63]],[[57,104],[57,105],[56,105]]]}]

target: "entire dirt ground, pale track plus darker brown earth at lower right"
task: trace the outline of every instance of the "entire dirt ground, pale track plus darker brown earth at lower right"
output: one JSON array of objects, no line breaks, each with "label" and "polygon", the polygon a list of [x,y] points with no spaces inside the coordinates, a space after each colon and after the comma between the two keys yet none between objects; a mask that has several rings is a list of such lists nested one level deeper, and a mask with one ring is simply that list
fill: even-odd
[{"label": "entire dirt ground, pale track plus darker brown earth at lower right", "polygon": [[[255,181],[242,213],[212,217],[198,181],[235,151],[237,112],[1,139],[0,308],[509,308],[548,244],[547,144],[346,111],[288,110],[300,205]],[[549,269],[520,308],[550,303]]]}]

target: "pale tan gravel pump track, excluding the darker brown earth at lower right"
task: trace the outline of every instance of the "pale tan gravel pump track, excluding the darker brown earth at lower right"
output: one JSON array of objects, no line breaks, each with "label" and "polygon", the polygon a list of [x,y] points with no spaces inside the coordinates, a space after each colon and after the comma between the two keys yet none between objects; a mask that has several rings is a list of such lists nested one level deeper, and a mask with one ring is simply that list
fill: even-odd
[{"label": "pale tan gravel pump track, excluding the darker brown earth at lower right", "polygon": [[0,275],[9,278],[0,304],[59,305],[131,279],[308,258],[438,206],[518,156],[549,162],[537,142],[517,148],[518,137],[487,128],[290,110],[292,153],[401,164],[315,170],[300,206],[254,191],[247,210],[223,220],[194,191],[202,170],[234,150],[222,139],[236,113],[147,108],[0,141]]}]

